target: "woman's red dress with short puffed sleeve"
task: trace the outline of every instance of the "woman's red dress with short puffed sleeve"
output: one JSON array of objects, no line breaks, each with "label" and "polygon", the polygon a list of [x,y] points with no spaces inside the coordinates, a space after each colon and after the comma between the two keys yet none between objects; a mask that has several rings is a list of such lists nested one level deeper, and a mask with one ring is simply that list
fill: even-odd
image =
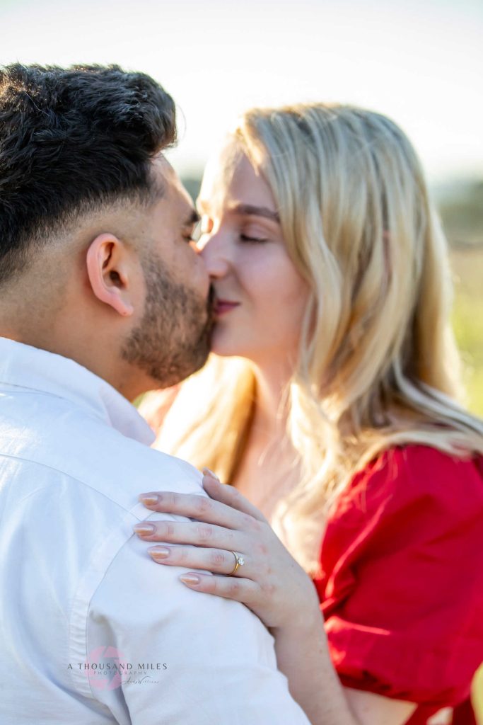
[{"label": "woman's red dress with short puffed sleeve", "polygon": [[345,686],[418,703],[411,725],[468,700],[483,661],[482,457],[385,452],[340,495],[321,565],[314,583]]}]

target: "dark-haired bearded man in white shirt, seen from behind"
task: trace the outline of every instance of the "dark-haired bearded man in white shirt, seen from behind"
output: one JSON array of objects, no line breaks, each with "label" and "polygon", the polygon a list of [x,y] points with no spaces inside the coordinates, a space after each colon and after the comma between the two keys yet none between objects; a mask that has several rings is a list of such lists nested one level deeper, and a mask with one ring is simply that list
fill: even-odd
[{"label": "dark-haired bearded man in white shirt, seen from behind", "polygon": [[173,141],[146,75],[0,71],[3,725],[307,722],[258,618],[154,567],[133,534],[139,491],[203,492],[128,402],[209,351]]}]

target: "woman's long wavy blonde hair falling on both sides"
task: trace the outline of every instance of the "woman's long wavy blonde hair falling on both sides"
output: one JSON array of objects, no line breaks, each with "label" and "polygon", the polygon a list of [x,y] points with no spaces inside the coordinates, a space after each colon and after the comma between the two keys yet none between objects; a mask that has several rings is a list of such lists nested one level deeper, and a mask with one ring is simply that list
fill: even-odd
[{"label": "woman's long wavy blonde hair falling on both sides", "polygon": [[[327,505],[356,471],[410,443],[483,453],[483,425],[455,402],[445,237],[400,128],[364,109],[301,104],[251,109],[230,138],[269,183],[311,286],[289,390],[303,473],[272,523],[314,571]],[[182,385],[163,450],[230,481],[255,397],[249,361],[211,355]]]}]

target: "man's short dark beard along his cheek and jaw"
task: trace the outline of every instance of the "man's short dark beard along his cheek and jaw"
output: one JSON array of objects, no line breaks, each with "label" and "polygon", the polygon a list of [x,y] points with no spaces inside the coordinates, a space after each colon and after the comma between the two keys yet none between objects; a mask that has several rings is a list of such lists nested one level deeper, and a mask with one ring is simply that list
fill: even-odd
[{"label": "man's short dark beard along his cheek and jaw", "polygon": [[125,341],[122,358],[167,388],[203,367],[210,349],[213,294],[203,299],[169,276],[161,260],[143,263],[143,318]]}]

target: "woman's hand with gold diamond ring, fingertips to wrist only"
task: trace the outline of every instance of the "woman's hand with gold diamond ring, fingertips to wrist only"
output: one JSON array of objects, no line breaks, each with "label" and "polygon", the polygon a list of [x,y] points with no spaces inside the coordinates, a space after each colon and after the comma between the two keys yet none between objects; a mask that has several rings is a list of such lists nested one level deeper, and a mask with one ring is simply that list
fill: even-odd
[{"label": "woman's hand with gold diamond ring, fingertips to wrist only", "polygon": [[[264,515],[232,486],[221,484],[211,471],[203,473],[209,498],[169,491],[140,495],[139,500],[151,511],[196,519],[137,524],[135,533],[144,541],[177,544],[149,548],[154,561],[211,571],[214,576],[191,571],[180,580],[197,592],[243,602],[267,627],[306,624],[309,615],[320,618],[314,584]],[[240,563],[229,576],[235,556]]]}]

